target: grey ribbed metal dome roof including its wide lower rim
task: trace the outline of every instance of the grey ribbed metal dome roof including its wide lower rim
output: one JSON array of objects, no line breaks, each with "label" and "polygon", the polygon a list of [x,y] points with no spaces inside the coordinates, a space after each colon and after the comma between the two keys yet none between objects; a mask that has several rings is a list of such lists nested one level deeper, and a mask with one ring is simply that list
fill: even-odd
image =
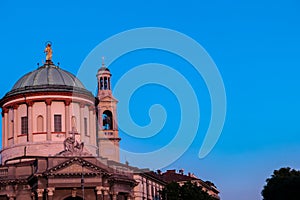
[{"label": "grey ribbed metal dome roof including its wide lower rim", "polygon": [[5,96],[27,92],[80,92],[91,95],[73,74],[52,63],[46,63],[38,69],[25,74]]}]

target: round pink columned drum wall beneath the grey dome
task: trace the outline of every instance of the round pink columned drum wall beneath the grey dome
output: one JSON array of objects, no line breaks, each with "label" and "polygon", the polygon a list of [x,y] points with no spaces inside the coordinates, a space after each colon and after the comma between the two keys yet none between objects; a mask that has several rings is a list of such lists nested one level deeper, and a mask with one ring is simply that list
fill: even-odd
[{"label": "round pink columned drum wall beneath the grey dome", "polygon": [[[6,102],[2,118],[2,162],[17,156],[49,156],[63,151],[63,142],[72,131],[72,116],[76,117],[76,140],[84,142],[86,150],[96,156],[98,150],[94,110],[94,102],[90,99],[64,95],[34,95],[27,97],[26,101],[25,98],[16,98]],[[54,115],[61,115],[60,132],[55,132]],[[39,116],[43,118],[42,130],[38,130]],[[28,117],[28,134],[21,132],[22,117]]]}]

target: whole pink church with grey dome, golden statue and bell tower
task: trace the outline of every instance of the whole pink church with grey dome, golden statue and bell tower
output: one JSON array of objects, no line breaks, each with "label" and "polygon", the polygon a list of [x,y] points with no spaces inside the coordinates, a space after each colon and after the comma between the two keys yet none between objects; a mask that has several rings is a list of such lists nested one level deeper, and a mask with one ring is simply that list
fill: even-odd
[{"label": "whole pink church with grey dome, golden statue and bell tower", "polygon": [[96,73],[95,97],[45,52],[0,100],[0,200],[160,199],[166,181],[120,163],[110,70]]}]

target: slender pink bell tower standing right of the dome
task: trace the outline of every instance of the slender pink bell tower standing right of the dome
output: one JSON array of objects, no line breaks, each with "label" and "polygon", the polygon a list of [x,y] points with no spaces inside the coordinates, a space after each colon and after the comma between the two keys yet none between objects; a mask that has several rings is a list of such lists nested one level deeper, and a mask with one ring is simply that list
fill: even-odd
[{"label": "slender pink bell tower standing right of the dome", "polygon": [[111,73],[102,61],[97,73],[98,80],[98,149],[99,156],[120,161],[120,149],[117,121],[117,103],[111,91]]}]

